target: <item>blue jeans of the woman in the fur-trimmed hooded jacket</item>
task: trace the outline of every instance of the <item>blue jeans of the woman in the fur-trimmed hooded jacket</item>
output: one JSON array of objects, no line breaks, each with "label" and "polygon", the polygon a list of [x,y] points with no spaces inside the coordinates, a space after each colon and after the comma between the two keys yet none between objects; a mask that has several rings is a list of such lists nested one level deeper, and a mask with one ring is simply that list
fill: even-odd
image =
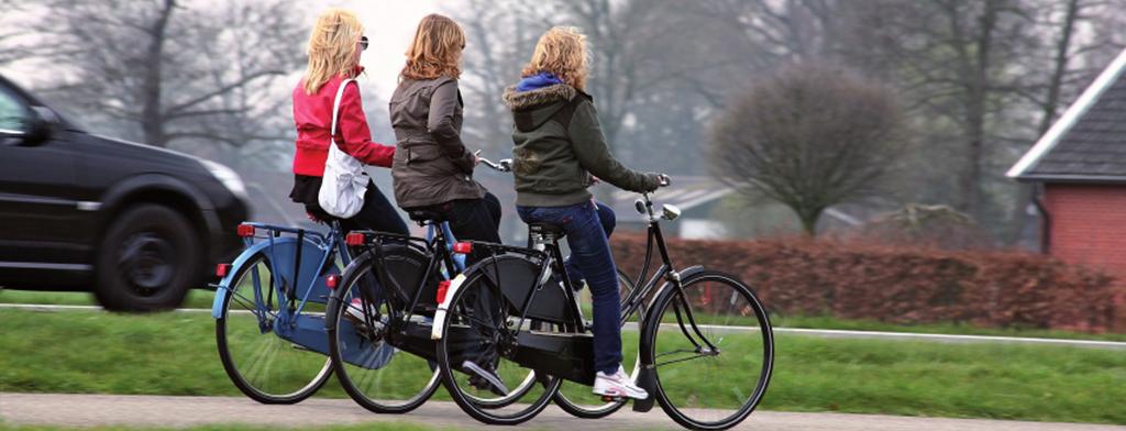
[{"label": "blue jeans of the woman in the fur-trimmed hooded jacket", "polygon": [[[595,302],[595,369],[605,374],[617,372],[622,363],[622,311],[618,308],[617,267],[610,254],[609,231],[614,228],[614,213],[609,207],[587,201],[564,207],[516,207],[525,223],[551,223],[566,232],[571,258],[566,271],[575,268],[587,279]],[[604,217],[604,215],[606,215]],[[607,218],[609,224],[602,222]],[[574,263],[571,263],[571,262]]]}]

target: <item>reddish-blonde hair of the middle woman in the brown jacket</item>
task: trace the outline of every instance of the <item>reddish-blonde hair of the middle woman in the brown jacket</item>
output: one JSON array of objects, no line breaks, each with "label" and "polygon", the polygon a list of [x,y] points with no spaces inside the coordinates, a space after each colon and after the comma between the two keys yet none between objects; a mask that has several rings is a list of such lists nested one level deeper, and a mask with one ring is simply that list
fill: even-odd
[{"label": "reddish-blonde hair of the middle woman in the brown jacket", "polygon": [[448,17],[430,14],[414,30],[414,41],[406,48],[406,65],[400,78],[427,80],[438,77],[457,79],[462,75],[462,50],[465,33]]}]

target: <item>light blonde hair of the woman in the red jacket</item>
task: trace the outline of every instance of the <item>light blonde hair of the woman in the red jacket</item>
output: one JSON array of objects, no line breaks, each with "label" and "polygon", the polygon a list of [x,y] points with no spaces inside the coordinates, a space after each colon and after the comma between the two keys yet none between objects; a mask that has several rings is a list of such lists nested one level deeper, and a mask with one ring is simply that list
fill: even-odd
[{"label": "light blonde hair of the woman in the red jacket", "polygon": [[316,18],[309,34],[309,68],[305,70],[305,93],[313,95],[337,75],[355,78],[356,50],[364,26],[356,14],[331,8]]}]

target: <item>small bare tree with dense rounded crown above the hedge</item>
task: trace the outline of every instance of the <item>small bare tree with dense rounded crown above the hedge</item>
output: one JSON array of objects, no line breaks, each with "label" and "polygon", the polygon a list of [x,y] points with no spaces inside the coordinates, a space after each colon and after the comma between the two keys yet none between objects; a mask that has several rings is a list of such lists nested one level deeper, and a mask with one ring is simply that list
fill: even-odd
[{"label": "small bare tree with dense rounded crown above the hedge", "polygon": [[713,173],[788,206],[815,235],[821,214],[883,191],[902,156],[887,90],[822,65],[780,71],[715,123]]}]

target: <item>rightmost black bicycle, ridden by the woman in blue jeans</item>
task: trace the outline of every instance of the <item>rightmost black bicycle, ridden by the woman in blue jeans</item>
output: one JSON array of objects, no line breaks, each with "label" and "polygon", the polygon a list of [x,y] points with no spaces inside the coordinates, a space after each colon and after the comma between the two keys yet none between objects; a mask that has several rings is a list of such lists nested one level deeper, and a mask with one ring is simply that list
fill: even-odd
[{"label": "rightmost black bicycle, ridden by the woman in blue jeans", "polygon": [[[636,207],[649,221],[649,242],[638,287],[622,302],[620,323],[627,330],[638,326],[636,332],[623,331],[623,344],[629,349],[635,343],[638,365],[633,378],[650,397],[635,401],[634,410],[649,411],[655,399],[683,426],[734,426],[758,406],[770,381],[774,335],[766,309],[734,276],[698,266],[676,269],[660,228],[660,221],[679,216],[676,207],[656,212],[649,194]],[[434,331],[443,383],[463,411],[489,424],[527,421],[553,398],[571,401],[572,414],[613,413],[625,399],[598,404],[575,399],[577,392],[558,396],[564,380],[589,392],[593,339],[562,264],[563,230],[539,223],[529,231],[531,248],[471,242],[491,257],[456,278],[438,307]],[[654,249],[662,264],[642,285]],[[458,362],[466,345],[494,350],[499,368],[512,376],[534,370],[543,392],[503,408],[483,408],[473,402],[477,389],[459,378],[467,372]]]}]

